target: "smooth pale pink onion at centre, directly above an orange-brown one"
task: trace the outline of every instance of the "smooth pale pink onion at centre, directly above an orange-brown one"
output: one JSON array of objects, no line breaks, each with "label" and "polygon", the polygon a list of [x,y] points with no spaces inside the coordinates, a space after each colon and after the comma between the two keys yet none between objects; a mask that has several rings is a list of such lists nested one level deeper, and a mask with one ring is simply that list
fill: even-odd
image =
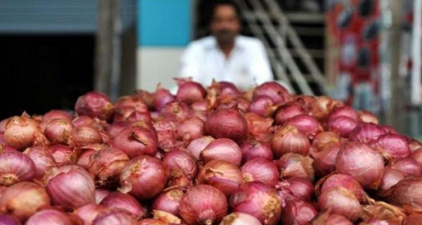
[{"label": "smooth pale pink onion at centre, directly above an orange-brown one", "polygon": [[242,150],[231,139],[215,139],[201,153],[205,163],[211,160],[226,160],[234,165],[241,165]]}]

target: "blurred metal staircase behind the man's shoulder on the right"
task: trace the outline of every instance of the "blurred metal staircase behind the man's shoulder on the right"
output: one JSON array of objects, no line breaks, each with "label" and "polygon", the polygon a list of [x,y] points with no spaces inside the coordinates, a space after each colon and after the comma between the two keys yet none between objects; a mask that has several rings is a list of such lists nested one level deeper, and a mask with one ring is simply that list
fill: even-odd
[{"label": "blurred metal staircase behind the man's shoulder on the right", "polygon": [[[291,23],[324,23],[324,15],[316,15],[318,18],[313,19],[309,16],[301,18],[300,14],[288,14],[281,10],[276,0],[236,1],[241,7],[245,28],[264,42],[276,79],[297,94],[328,94],[328,83],[321,72],[324,63],[316,63],[318,58],[320,62],[324,59],[324,47],[309,50],[298,34],[324,36],[324,30],[318,27],[293,27]],[[324,46],[324,43],[316,45]]]}]

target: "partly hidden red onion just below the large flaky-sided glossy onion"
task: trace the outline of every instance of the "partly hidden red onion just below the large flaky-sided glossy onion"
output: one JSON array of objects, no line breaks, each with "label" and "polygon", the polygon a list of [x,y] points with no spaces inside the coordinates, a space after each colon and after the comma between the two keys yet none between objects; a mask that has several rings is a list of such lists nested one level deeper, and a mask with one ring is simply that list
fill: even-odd
[{"label": "partly hidden red onion just below the large flaky-sided glossy onion", "polygon": [[146,214],[141,204],[139,204],[134,197],[124,193],[109,193],[106,198],[101,201],[101,205],[110,210],[122,210],[131,214],[136,219],[140,219]]}]

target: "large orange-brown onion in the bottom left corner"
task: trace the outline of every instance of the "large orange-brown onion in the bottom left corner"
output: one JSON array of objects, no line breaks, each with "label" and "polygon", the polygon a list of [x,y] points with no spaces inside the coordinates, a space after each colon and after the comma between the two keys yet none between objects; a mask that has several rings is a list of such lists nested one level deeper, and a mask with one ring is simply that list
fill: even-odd
[{"label": "large orange-brown onion in the bottom left corner", "polygon": [[50,206],[46,190],[31,182],[21,182],[6,189],[0,198],[0,212],[25,220],[43,207]]}]

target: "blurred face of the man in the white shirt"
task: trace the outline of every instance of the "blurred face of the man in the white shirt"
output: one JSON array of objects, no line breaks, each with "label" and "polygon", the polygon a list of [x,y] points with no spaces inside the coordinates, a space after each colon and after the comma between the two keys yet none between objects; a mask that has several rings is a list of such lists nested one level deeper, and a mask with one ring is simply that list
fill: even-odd
[{"label": "blurred face of the man in the white shirt", "polygon": [[217,6],[210,25],[219,44],[231,44],[241,30],[236,9],[233,6]]}]

